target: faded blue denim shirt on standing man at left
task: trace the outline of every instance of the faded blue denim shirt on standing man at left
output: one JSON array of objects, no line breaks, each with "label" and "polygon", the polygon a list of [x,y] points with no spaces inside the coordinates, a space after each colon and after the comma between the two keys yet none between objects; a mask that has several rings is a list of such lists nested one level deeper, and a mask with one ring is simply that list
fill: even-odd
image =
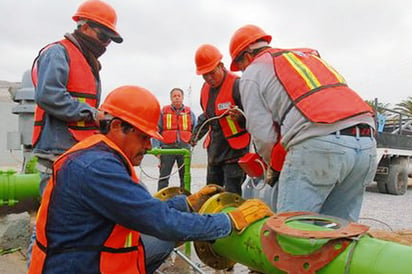
[{"label": "faded blue denim shirt on standing man at left", "polygon": [[[45,117],[34,152],[60,155],[77,143],[67,128],[67,122],[89,120],[96,110],[74,99],[67,91],[69,60],[62,45],[55,44],[41,53],[37,62],[37,78],[35,101],[45,111]],[[96,80],[96,85],[99,103],[100,81]]]}]

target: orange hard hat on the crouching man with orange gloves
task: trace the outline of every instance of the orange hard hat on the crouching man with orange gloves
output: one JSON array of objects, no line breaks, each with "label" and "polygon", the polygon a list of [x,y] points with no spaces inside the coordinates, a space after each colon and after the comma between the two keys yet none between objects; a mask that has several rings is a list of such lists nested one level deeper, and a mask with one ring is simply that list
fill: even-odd
[{"label": "orange hard hat on the crouching man with orange gloves", "polygon": [[159,101],[145,88],[116,88],[107,95],[100,109],[128,122],[153,138],[163,140],[157,127],[160,118]]}]

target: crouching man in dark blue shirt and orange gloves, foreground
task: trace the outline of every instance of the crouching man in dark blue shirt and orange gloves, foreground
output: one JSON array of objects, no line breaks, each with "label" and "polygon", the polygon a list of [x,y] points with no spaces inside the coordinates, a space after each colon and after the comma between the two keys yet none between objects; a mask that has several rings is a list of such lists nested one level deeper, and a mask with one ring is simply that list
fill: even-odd
[{"label": "crouching man in dark blue shirt and orange gloves, foreground", "polygon": [[151,149],[151,138],[163,138],[159,102],[147,89],[121,86],[101,110],[100,134],[54,162],[29,273],[154,273],[177,241],[226,237],[273,214],[260,200],[228,213],[197,214],[223,191],[217,185],[168,201],[152,197],[134,166]]}]

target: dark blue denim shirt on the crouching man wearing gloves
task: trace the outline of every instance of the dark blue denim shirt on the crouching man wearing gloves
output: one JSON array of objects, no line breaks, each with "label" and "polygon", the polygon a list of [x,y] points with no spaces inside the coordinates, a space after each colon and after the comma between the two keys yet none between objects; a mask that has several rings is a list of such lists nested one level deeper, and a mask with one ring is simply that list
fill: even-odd
[{"label": "dark blue denim shirt on the crouching man wearing gloves", "polygon": [[[227,214],[188,212],[186,197],[163,202],[130,177],[104,144],[69,156],[57,174],[46,235],[50,248],[103,246],[116,224],[168,241],[214,240],[231,233]],[[45,273],[98,273],[99,252],[50,255]]]}]

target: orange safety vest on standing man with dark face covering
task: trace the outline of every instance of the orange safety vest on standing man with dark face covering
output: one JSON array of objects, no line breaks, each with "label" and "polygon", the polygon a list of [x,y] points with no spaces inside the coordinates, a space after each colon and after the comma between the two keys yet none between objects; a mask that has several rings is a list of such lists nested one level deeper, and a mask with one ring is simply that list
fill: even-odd
[{"label": "orange safety vest on standing man with dark face covering", "polygon": [[[37,58],[34,60],[32,68],[32,79],[34,86],[37,86],[37,60],[40,54],[50,46],[59,43],[64,46],[69,59],[69,79],[67,82],[67,91],[70,95],[80,102],[97,108],[97,87],[96,79],[90,69],[90,65],[81,53],[81,51],[69,40],[63,39],[59,42],[52,43],[44,47]],[[34,111],[34,129],[32,135],[32,144],[36,145],[40,138],[44,124],[45,111],[36,105]],[[68,129],[76,141],[81,141],[97,132],[97,125],[94,121],[77,121],[68,122]]]}]

